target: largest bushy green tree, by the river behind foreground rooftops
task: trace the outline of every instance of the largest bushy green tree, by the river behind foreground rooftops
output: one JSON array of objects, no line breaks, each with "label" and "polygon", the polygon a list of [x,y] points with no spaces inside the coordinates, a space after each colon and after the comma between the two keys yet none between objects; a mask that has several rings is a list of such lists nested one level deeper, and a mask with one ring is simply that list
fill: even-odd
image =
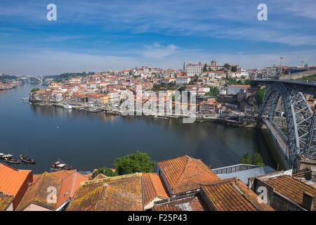
[{"label": "largest bushy green tree, by the river behind foreground rooftops", "polygon": [[135,154],[117,158],[114,167],[119,175],[133,174],[136,172],[153,172],[155,163],[147,153],[136,151]]}]

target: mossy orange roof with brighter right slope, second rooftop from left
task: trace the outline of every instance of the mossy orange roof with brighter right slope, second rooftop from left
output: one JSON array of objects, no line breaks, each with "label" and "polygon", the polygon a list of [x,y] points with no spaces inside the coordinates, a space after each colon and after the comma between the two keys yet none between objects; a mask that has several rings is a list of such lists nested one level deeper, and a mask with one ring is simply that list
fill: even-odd
[{"label": "mossy orange roof with brighter right slope, second rooftop from left", "polygon": [[[88,181],[88,177],[79,174],[75,169],[58,172],[44,172],[35,176],[22,198],[17,210],[25,210],[29,205],[39,205],[48,210],[55,210],[72,198],[81,182]],[[48,187],[53,186],[57,191],[56,203],[48,203]]]}]

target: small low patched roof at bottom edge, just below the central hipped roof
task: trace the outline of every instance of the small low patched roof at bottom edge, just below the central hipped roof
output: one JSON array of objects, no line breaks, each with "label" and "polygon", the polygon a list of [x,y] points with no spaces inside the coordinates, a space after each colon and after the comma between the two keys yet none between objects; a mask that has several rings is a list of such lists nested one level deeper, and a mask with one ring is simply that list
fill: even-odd
[{"label": "small low patched roof at bottom edge, just below the central hipped roof", "polygon": [[183,198],[171,198],[169,202],[154,205],[152,211],[205,211],[206,206],[202,199],[189,195]]}]

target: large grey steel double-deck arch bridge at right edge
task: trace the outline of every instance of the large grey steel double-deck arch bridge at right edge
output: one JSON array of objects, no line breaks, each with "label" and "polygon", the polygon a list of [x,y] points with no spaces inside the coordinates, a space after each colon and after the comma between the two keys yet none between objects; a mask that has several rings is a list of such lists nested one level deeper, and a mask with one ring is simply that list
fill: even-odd
[{"label": "large grey steel double-deck arch bridge at right edge", "polygon": [[258,121],[277,140],[289,168],[298,160],[316,162],[316,115],[305,96],[316,95],[316,83],[288,80],[255,80],[267,87]]}]

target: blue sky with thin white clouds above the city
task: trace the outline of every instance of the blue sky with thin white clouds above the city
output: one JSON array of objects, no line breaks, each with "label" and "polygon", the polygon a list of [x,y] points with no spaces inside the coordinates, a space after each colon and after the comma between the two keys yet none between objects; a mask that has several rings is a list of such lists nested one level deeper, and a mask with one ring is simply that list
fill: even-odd
[{"label": "blue sky with thin white clouds above the city", "polygon": [[[56,4],[57,21],[46,20]],[[268,6],[258,21],[257,6]],[[316,1],[1,0],[0,73],[56,75],[183,62],[316,65]]]}]

